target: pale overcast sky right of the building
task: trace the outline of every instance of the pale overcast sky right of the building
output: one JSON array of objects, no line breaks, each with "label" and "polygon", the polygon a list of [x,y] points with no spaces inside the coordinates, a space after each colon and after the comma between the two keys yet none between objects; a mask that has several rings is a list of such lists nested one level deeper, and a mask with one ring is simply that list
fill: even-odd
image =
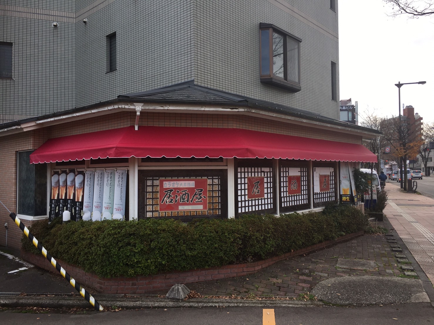
[{"label": "pale overcast sky right of the building", "polygon": [[[412,105],[424,122],[434,122],[434,16],[389,17],[382,0],[339,0],[340,99],[358,101],[363,116],[398,116]],[[374,111],[375,110],[375,111]]]}]

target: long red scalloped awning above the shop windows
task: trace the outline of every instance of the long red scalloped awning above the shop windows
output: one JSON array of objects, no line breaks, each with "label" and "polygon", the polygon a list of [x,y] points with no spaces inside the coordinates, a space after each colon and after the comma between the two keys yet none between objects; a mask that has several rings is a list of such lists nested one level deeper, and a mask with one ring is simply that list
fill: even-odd
[{"label": "long red scalloped awning above the shop windows", "polygon": [[50,139],[30,155],[30,162],[132,156],[377,161],[361,144],[242,129],[141,126],[136,131],[131,126]]}]

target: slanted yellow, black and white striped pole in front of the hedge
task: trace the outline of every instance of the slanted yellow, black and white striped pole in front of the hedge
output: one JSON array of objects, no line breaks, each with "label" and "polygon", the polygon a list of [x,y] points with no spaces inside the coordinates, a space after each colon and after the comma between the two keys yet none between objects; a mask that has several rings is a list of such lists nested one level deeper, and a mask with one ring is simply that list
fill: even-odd
[{"label": "slanted yellow, black and white striped pole in front of the hedge", "polygon": [[80,286],[80,283],[76,282],[76,280],[74,280],[72,278],[72,276],[70,276],[65,271],[65,269],[62,266],[60,266],[60,264],[57,263],[57,261],[47,252],[47,250],[41,244],[39,244],[38,240],[33,236],[33,234],[29,231],[29,229],[21,222],[21,220],[16,216],[16,214],[13,212],[10,212],[9,216],[10,216],[10,218],[12,218],[12,220],[15,222],[15,224],[18,227],[20,227],[20,229],[23,231],[23,233],[32,241],[33,245],[35,245],[38,248],[38,250],[42,253],[42,255],[45,256],[47,260],[49,260],[51,265],[53,265],[56,268],[56,270],[60,274],[62,274],[62,276],[69,282],[69,284],[71,286],[73,286],[80,293],[80,295],[82,295],[82,297],[84,299],[86,299],[86,301],[88,301],[95,308],[96,311],[102,312],[104,307],[102,307],[95,300],[95,298],[93,298],[82,286]]}]

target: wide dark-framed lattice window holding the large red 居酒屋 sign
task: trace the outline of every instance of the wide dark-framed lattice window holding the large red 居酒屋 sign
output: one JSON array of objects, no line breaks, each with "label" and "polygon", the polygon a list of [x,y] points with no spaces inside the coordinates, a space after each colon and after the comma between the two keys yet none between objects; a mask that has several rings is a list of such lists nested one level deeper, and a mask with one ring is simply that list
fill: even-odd
[{"label": "wide dark-framed lattice window holding the large red \u5c45\u9152\u5c4b sign", "polygon": [[227,171],[139,170],[138,219],[160,217],[227,218]]}]

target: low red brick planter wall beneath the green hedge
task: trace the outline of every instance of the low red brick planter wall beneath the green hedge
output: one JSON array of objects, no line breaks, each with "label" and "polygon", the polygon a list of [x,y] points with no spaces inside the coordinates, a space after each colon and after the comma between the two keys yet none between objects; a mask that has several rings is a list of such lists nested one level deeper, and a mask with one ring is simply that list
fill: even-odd
[{"label": "low red brick planter wall beneath the green hedge", "polygon": [[[83,286],[91,287],[99,293],[116,293],[116,294],[145,294],[152,293],[160,289],[169,289],[175,283],[192,283],[201,282],[207,280],[216,280],[220,278],[229,278],[234,276],[245,276],[253,274],[259,270],[274,264],[280,260],[285,260],[288,257],[294,257],[302,254],[306,254],[315,250],[322,249],[324,247],[336,244],[341,241],[349,240],[354,237],[362,235],[364,232],[359,231],[353,234],[347,234],[339,237],[336,240],[327,240],[323,243],[312,245],[300,250],[286,253],[277,257],[271,257],[267,260],[260,260],[253,263],[244,264],[231,264],[220,267],[212,267],[209,269],[197,269],[184,272],[167,272],[154,276],[136,276],[136,277],[117,277],[117,278],[99,278],[93,273],[88,273],[80,268],[57,260],[60,265],[68,272],[76,281]],[[45,270],[56,272],[51,263],[43,257],[42,254],[35,255],[25,251],[21,251],[21,257],[32,263],[35,266],[41,267]]]}]

